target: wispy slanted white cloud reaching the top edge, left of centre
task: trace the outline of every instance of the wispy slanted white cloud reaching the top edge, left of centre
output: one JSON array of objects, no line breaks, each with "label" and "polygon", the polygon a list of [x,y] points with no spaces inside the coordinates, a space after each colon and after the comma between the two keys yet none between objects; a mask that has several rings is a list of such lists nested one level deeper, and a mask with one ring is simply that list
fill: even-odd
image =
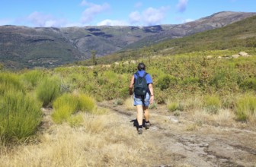
[{"label": "wispy slanted white cloud reaching the top edge, left of centre", "polygon": [[87,2],[85,0],[83,0],[80,5],[88,6],[88,8],[86,8],[85,11],[83,11],[82,13],[82,24],[88,24],[89,22],[91,22],[91,20],[94,19],[97,14],[100,14],[101,12],[106,11],[108,8],[110,8],[110,5],[108,5],[107,3],[97,5],[91,2]]}]

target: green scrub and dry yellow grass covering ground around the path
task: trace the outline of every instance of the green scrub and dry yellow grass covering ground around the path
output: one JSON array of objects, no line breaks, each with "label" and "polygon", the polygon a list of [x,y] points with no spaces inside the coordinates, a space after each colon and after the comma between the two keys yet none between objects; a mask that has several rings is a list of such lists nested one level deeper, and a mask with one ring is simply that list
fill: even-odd
[{"label": "green scrub and dry yellow grass covering ground around the path", "polygon": [[[139,155],[156,146],[134,137],[132,127],[124,127],[122,120],[116,120],[117,115],[97,105],[107,101],[126,110],[134,109],[128,85],[140,61],[146,64],[146,71],[153,79],[155,103],[150,109],[161,106],[164,110],[160,114],[166,111],[176,117],[187,113],[195,124],[187,126],[186,131],[194,131],[202,124],[229,126],[229,121],[254,126],[254,42],[255,37],[251,37],[241,47],[230,46],[232,49],[227,49],[234,44],[230,41],[229,45],[221,44],[227,48],[206,43],[202,47],[207,49],[198,46],[194,47],[195,52],[184,46],[184,52],[176,50],[176,54],[170,43],[162,43],[155,50],[149,47],[136,51],[139,53],[136,61],[133,56],[126,56],[125,61],[90,67],[82,62],[69,67],[8,72],[0,65],[0,155],[4,157],[0,165],[16,166],[15,162],[23,162],[21,166],[145,165]],[[165,50],[168,47],[171,49]],[[250,56],[232,57],[240,51]],[[43,109],[51,111],[53,125],[49,129],[42,128],[46,117]],[[17,143],[28,144],[33,151],[26,152],[27,147],[19,147]],[[29,157],[26,161],[21,156],[24,152]],[[15,162],[8,156],[11,153]]]}]

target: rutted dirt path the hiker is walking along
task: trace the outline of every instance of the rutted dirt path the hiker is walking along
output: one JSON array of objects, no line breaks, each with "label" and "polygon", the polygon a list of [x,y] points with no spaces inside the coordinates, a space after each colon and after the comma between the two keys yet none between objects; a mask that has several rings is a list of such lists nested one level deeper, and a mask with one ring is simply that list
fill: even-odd
[{"label": "rutted dirt path the hiker is walking along", "polygon": [[[120,115],[123,124],[133,126],[136,110],[101,102],[99,107]],[[200,124],[186,119],[186,113],[151,111],[152,127],[143,131],[142,140],[155,144],[148,158],[150,166],[256,166],[256,130]],[[136,128],[134,128],[136,133]]]}]

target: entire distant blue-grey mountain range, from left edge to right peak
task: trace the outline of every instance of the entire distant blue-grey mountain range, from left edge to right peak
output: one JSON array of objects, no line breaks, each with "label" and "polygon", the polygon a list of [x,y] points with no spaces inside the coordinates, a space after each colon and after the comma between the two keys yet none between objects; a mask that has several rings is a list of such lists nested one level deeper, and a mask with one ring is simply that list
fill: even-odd
[{"label": "entire distant blue-grey mountain range, from left edge to right peak", "polygon": [[121,49],[224,27],[256,13],[220,12],[186,24],[152,27],[0,27],[0,61],[9,68],[53,67]]}]

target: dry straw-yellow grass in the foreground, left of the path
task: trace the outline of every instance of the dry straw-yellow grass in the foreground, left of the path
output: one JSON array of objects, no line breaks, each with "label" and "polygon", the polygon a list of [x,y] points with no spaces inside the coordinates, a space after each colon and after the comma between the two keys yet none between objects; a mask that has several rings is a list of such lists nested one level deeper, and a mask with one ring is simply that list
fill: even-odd
[{"label": "dry straw-yellow grass in the foreground, left of the path", "polygon": [[136,166],[146,165],[142,153],[154,150],[135,129],[115,114],[85,114],[84,124],[71,128],[53,125],[40,136],[40,143],[2,148],[0,166]]}]

